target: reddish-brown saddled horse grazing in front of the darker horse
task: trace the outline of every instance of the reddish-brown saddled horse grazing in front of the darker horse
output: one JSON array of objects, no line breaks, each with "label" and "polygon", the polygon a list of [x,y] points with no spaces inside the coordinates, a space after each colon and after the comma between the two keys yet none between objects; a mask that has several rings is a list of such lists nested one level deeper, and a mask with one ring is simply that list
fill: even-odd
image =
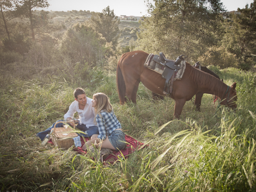
[{"label": "reddish-brown saddled horse grazing in front of the darker horse", "polygon": [[[152,92],[164,95],[165,79],[160,74],[144,67],[147,57],[146,52],[133,51],[123,54],[120,58],[116,80],[121,104],[126,102],[126,98],[136,103],[140,82]],[[185,102],[191,100],[197,93],[215,94],[221,98],[221,105],[236,108],[236,82],[230,87],[186,62],[186,70],[182,79],[173,82],[172,94],[169,95],[175,100],[174,118],[179,118]]]}]

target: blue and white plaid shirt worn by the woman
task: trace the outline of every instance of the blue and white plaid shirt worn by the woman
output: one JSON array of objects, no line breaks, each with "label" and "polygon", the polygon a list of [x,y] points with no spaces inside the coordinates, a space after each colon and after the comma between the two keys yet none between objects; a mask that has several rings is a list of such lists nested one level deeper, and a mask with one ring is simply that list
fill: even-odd
[{"label": "blue and white plaid shirt worn by the woman", "polygon": [[109,136],[114,130],[122,127],[113,110],[110,113],[102,110],[100,114],[102,115],[102,118],[99,114],[96,116],[96,122],[100,133],[98,138],[105,140],[106,136]]}]

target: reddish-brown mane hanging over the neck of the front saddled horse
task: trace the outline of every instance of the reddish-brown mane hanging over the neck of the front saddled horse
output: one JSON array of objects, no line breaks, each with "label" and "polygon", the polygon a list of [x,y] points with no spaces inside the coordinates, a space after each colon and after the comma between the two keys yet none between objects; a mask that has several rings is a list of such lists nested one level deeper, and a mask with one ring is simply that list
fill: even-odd
[{"label": "reddish-brown mane hanging over the neck of the front saddled horse", "polygon": [[218,96],[222,96],[223,92],[227,89],[227,85],[220,81],[220,79],[192,67],[188,62],[186,62],[186,70],[190,71],[189,76],[198,86],[210,86]]}]

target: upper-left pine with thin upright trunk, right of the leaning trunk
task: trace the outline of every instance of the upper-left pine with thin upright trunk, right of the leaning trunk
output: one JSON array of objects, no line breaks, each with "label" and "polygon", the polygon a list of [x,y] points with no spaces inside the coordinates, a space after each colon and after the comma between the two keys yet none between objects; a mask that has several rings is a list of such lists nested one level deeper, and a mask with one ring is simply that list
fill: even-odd
[{"label": "upper-left pine with thin upright trunk, right of the leaning trunk", "polygon": [[24,16],[28,18],[30,21],[30,30],[32,40],[35,40],[35,32],[34,29],[37,27],[36,25],[36,14],[33,13],[33,10],[36,8],[45,8],[48,7],[47,0],[16,0],[16,12],[19,16]]}]

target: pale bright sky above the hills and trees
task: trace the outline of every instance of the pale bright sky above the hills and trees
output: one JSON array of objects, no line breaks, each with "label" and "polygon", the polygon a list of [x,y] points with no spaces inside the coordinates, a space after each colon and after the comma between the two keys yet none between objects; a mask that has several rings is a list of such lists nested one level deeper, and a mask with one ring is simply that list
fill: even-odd
[{"label": "pale bright sky above the hills and trees", "polygon": [[[220,0],[228,11],[236,11],[237,8],[245,8],[246,3],[253,0]],[[150,2],[154,2],[150,0]],[[143,16],[146,15],[147,6],[144,0],[48,0],[50,6],[48,11],[72,11],[86,10],[102,12],[104,8],[110,6],[116,16]],[[39,8],[38,10],[42,10]]]}]

